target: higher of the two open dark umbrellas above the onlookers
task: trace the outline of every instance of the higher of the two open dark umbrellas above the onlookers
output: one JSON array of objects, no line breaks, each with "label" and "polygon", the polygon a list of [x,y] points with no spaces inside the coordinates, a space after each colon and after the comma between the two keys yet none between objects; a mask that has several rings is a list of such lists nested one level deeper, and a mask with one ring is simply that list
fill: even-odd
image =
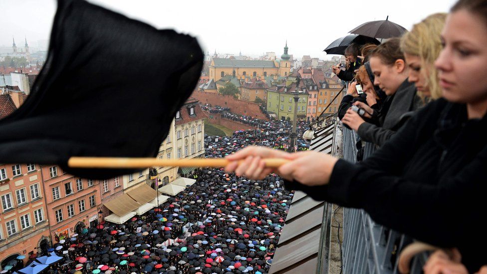
[{"label": "higher of the two open dark umbrellas above the onlookers", "polygon": [[403,26],[391,22],[388,19],[389,16],[387,16],[385,20],[363,23],[350,30],[350,33],[387,39],[392,37],[400,37],[408,31]]}]

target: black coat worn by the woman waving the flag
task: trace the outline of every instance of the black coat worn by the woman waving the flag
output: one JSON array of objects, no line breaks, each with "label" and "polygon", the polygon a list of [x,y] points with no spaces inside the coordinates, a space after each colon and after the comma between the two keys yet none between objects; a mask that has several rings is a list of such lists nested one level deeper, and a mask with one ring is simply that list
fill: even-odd
[{"label": "black coat worn by the woman waving the flag", "polygon": [[438,99],[362,163],[339,160],[328,185],[284,183],[316,200],[362,208],[420,241],[457,247],[474,272],[487,264],[486,144],[487,115],[468,120],[465,105]]}]

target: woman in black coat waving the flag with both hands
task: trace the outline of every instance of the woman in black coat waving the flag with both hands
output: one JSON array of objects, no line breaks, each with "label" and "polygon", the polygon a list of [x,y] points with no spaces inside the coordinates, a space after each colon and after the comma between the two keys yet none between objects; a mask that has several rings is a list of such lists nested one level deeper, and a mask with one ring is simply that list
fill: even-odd
[{"label": "woman in black coat waving the flag with both hands", "polygon": [[[314,151],[261,147],[228,156],[226,170],[250,179],[273,171],[261,158],[291,160],[277,171],[314,199],[362,208],[420,241],[456,247],[474,272],[487,263],[487,2],[460,0],[436,61],[443,98],[418,111],[374,155],[354,165]],[[465,31],[468,29],[469,31]],[[248,157],[247,157],[248,156]],[[245,158],[243,163],[236,162]],[[482,250],[481,250],[482,249]]]}]

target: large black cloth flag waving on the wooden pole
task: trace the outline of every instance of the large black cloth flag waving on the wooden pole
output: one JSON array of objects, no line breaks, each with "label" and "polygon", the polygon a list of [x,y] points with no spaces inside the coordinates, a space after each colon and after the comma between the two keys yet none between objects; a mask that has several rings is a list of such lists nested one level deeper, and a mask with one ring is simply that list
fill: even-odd
[{"label": "large black cloth flag waving on the wooden pole", "polygon": [[198,41],[84,0],[59,0],[44,67],[0,120],[0,162],[107,179],[134,169],[67,167],[71,156],[156,157],[203,66]]}]

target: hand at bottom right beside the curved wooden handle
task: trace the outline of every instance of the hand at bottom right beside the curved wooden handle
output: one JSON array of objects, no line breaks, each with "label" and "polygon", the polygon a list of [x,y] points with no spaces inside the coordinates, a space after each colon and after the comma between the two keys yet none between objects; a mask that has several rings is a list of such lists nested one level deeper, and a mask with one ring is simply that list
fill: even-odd
[{"label": "hand at bottom right beside the curved wooden handle", "polygon": [[460,253],[454,250],[450,258],[443,250],[433,253],[423,267],[425,274],[468,274],[467,268],[460,263]]}]

